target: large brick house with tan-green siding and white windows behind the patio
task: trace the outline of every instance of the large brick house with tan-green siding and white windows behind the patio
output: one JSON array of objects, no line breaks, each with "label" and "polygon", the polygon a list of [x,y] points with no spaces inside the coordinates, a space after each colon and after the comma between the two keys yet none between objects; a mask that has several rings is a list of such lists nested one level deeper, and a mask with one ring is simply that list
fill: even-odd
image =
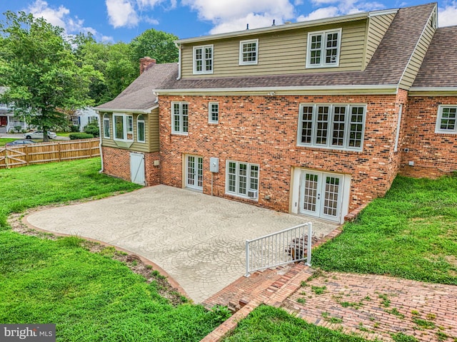
[{"label": "large brick house with tan-green siding and white windows behind the patio", "polygon": [[457,170],[457,28],[436,4],[181,39],[101,116],[104,172],[336,222]]}]

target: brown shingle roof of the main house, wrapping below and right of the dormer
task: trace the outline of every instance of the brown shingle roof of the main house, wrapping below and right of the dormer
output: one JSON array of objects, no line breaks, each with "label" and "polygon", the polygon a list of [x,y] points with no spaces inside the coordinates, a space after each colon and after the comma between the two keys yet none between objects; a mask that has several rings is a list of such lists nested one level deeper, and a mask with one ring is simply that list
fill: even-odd
[{"label": "brown shingle roof of the main house, wrapping below and right of the dormer", "polygon": [[[254,90],[256,88],[396,88],[416,45],[421,38],[436,3],[399,9],[379,44],[370,63],[364,71],[301,73],[272,76],[238,76],[183,78],[164,78],[156,87],[162,93],[198,91]],[[407,34],[405,34],[407,33]]]}]

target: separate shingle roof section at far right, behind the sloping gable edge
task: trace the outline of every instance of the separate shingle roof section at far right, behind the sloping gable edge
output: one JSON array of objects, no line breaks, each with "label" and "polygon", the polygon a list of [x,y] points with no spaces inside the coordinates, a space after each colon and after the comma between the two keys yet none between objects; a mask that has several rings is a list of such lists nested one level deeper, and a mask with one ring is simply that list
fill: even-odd
[{"label": "separate shingle roof section at far right, behind the sloping gable edge", "polygon": [[457,87],[457,26],[437,28],[413,88]]}]

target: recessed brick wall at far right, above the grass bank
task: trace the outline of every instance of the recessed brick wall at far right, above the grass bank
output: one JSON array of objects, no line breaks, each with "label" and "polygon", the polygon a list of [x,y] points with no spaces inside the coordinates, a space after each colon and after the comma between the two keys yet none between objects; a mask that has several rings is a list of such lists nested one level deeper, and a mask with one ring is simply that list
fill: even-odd
[{"label": "recessed brick wall at far right, above the grass bank", "polygon": [[[457,170],[457,135],[435,133],[438,105],[441,104],[457,105],[457,96],[411,96],[408,99],[401,145],[402,175],[438,177]],[[408,166],[410,161],[413,166]]]}]

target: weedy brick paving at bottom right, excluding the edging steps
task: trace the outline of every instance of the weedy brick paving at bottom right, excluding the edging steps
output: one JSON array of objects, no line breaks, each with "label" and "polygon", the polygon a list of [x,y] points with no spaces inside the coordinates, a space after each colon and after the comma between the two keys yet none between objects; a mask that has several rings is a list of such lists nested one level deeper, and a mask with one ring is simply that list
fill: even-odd
[{"label": "weedy brick paving at bottom right, excluding the edging steps", "polygon": [[370,340],[404,333],[419,341],[457,341],[457,286],[333,272],[307,284],[281,307],[309,323]]}]

